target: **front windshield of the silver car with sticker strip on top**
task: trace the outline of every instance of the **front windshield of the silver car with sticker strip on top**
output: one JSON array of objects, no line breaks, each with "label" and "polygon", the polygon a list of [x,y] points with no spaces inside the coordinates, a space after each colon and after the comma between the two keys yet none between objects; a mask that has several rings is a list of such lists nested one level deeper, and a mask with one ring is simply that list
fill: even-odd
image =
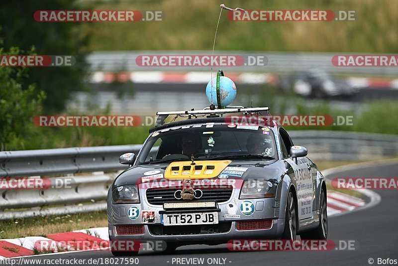
[{"label": "front windshield of the silver car with sticker strip on top", "polygon": [[154,132],[147,139],[137,164],[179,160],[277,157],[269,127],[197,124]]}]

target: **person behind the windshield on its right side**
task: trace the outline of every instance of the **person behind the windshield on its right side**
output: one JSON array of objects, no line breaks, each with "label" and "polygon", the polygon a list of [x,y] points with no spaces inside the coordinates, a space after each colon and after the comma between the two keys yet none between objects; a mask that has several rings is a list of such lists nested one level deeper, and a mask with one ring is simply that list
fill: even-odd
[{"label": "person behind the windshield on its right side", "polygon": [[260,133],[252,133],[247,137],[247,152],[252,155],[272,156],[274,154],[272,137]]}]

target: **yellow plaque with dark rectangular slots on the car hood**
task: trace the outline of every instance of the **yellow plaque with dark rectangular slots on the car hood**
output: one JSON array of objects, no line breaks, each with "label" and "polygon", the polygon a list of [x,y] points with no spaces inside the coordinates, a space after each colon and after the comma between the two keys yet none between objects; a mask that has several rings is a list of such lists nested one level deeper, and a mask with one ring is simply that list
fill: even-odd
[{"label": "yellow plaque with dark rectangular slots on the car hood", "polygon": [[225,169],[231,160],[222,161],[176,161],[167,166],[165,171],[166,179],[205,179],[218,176]]}]

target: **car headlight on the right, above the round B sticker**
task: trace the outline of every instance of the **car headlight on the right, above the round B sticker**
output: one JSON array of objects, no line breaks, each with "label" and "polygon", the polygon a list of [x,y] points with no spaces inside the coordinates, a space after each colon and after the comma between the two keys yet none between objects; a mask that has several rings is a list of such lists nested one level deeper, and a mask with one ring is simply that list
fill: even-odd
[{"label": "car headlight on the right, above the round B sticker", "polygon": [[245,180],[240,190],[240,199],[273,198],[277,184],[267,180]]}]

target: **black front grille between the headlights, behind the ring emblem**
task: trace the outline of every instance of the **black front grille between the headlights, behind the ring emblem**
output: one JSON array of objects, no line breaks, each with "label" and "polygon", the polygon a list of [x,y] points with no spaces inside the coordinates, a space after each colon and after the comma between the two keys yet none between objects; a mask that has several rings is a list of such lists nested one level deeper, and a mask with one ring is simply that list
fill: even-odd
[{"label": "black front grille between the headlights, behind the ring emblem", "polygon": [[[146,191],[146,198],[148,202],[153,205],[163,205],[163,203],[167,202],[182,202],[182,199],[176,199],[174,197],[176,190],[176,188],[148,189]],[[194,198],[192,201],[216,201],[217,203],[221,203],[231,198],[233,188],[203,188],[200,190],[203,192],[202,196],[199,199]]]}]

